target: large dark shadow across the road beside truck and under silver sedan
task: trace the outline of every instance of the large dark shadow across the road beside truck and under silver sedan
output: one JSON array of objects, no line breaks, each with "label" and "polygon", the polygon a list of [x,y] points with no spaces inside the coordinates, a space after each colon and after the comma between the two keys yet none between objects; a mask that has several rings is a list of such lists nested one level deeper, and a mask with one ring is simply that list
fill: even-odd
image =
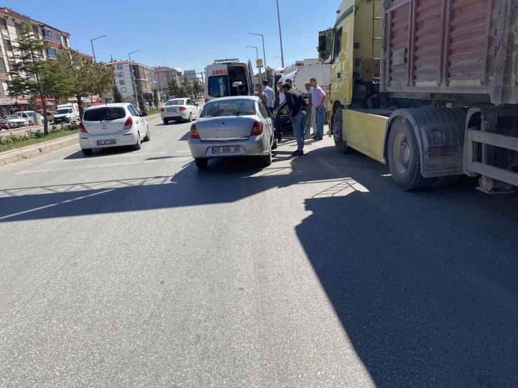
[{"label": "large dark shadow across the road beside truck and under silver sedan", "polygon": [[517,386],[517,196],[486,196],[472,180],[404,193],[387,174],[332,148],[265,169],[191,163],[173,176],[3,190],[0,222],[232,203],[328,181],[295,232],[374,382]]}]

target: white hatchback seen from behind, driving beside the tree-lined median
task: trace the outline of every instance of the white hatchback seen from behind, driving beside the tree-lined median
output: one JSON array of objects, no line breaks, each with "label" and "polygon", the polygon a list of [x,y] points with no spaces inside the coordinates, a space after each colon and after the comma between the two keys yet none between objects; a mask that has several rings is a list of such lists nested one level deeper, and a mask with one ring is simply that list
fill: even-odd
[{"label": "white hatchback seen from behind, driving beside the tree-lined median", "polygon": [[79,124],[81,150],[85,155],[92,154],[94,148],[125,145],[140,150],[141,143],[151,138],[148,123],[144,120],[146,115],[131,103],[90,106]]}]

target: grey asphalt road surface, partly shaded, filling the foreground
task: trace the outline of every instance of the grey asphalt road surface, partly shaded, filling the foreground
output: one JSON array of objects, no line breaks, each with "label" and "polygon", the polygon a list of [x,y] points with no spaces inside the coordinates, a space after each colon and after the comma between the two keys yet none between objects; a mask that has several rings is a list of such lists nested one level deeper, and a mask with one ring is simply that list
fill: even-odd
[{"label": "grey asphalt road surface, partly shaded, filling the foreground", "polygon": [[150,127],[0,168],[1,387],[518,386],[516,194]]}]

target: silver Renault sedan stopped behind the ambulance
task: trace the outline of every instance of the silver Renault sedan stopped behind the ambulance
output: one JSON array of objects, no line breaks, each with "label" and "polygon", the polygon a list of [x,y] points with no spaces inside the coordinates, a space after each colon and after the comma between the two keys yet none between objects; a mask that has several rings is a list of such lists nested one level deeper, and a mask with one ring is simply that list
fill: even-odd
[{"label": "silver Renault sedan stopped behind the ambulance", "polygon": [[269,166],[276,148],[272,114],[255,96],[211,100],[190,127],[189,148],[198,168],[209,159],[244,156],[259,156]]}]

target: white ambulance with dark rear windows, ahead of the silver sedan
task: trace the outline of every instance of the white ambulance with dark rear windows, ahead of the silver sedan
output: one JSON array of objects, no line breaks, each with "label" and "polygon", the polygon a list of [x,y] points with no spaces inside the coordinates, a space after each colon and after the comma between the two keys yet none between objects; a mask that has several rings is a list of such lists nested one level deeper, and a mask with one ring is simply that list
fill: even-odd
[{"label": "white ambulance with dark rear windows, ahead of the silver sedan", "polygon": [[216,59],[205,68],[205,101],[228,96],[251,96],[255,92],[250,61]]}]

